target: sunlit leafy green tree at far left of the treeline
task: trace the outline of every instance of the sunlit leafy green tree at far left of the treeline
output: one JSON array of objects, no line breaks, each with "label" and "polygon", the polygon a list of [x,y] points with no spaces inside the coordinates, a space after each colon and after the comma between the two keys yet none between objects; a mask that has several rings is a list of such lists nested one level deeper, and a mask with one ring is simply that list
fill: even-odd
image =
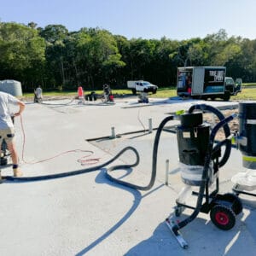
[{"label": "sunlit leafy green tree at far left of the treeline", "polygon": [[15,22],[0,23],[1,79],[33,86],[44,78],[44,39],[38,31]]}]

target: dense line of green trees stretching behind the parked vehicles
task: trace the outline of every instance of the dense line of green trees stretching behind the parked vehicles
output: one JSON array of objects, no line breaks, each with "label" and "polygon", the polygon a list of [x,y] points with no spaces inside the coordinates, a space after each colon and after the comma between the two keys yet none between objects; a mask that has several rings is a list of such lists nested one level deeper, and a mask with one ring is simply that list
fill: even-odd
[{"label": "dense line of green trees stretching behind the parked vehicles", "polygon": [[69,32],[62,25],[37,27],[0,22],[0,80],[15,79],[24,91],[125,88],[144,79],[176,84],[177,67],[225,66],[227,76],[256,81],[256,39],[228,37],[224,29],[206,38],[177,41],[113,35],[100,28]]}]

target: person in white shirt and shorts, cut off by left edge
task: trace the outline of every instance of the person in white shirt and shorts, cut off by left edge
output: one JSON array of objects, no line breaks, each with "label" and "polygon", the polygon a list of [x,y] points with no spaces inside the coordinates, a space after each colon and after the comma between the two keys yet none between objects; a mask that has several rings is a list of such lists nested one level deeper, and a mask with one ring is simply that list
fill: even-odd
[{"label": "person in white shirt and shorts, cut off by left edge", "polygon": [[[11,114],[9,106],[15,105],[19,107],[19,111]],[[11,159],[13,161],[13,171],[15,177],[21,177],[22,172],[19,167],[19,157],[15,147],[15,125],[12,116],[19,116],[25,109],[25,103],[20,102],[15,96],[0,91],[0,145],[3,139],[7,143]]]}]

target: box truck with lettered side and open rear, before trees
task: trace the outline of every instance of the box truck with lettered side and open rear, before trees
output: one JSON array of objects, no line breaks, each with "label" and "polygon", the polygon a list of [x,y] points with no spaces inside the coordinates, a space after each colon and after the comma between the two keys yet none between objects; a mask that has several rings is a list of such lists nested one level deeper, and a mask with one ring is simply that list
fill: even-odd
[{"label": "box truck with lettered side and open rear, before trees", "polygon": [[225,77],[226,67],[178,67],[177,95],[192,98],[222,98],[229,101],[230,96],[241,92],[241,79]]}]

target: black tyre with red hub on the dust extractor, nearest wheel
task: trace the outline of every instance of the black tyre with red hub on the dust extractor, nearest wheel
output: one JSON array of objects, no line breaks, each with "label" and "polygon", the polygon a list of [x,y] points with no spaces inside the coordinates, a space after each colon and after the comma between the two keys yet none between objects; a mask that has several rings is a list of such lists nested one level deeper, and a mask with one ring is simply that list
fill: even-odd
[{"label": "black tyre with red hub on the dust extractor, nearest wheel", "polygon": [[220,230],[231,230],[236,224],[236,213],[229,207],[216,205],[210,212],[212,223]]}]

